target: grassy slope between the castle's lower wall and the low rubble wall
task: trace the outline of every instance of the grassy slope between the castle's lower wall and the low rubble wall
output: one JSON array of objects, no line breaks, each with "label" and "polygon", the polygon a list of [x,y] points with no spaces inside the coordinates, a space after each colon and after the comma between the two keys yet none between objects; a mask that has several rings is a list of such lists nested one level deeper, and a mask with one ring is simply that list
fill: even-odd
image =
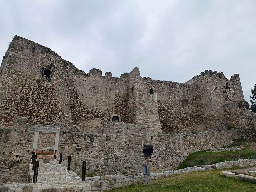
[{"label": "grassy slope between the castle's lower wall and the low rubble wall", "polygon": [[205,150],[192,153],[188,155],[183,163],[180,166],[176,167],[176,169],[184,169],[194,166],[201,167],[202,165],[211,165],[223,161],[236,161],[238,159],[256,159],[256,151],[250,150],[250,144],[250,141],[237,140],[232,145],[227,147],[244,145],[244,150],[222,152],[209,152],[209,150]]}]

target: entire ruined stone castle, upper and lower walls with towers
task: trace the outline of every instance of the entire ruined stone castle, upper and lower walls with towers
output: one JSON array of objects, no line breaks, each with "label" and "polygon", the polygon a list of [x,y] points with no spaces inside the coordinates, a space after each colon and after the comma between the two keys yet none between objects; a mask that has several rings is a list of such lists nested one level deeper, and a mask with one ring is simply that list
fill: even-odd
[{"label": "entire ruined stone castle, upper and lower walls with towers", "polygon": [[32,149],[49,147],[71,155],[77,173],[86,160],[97,174],[138,174],[143,144],[154,146],[152,170],[174,168],[192,152],[254,139],[248,106],[238,74],[206,70],[177,83],[138,68],[85,73],[15,36],[0,68],[0,183],[26,181]]}]

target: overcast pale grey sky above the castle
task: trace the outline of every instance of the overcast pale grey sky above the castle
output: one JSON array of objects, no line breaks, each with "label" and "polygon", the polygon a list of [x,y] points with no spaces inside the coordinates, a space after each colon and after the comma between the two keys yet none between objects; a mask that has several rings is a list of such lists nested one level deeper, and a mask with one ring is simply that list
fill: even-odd
[{"label": "overcast pale grey sky above the castle", "polygon": [[0,53],[14,35],[89,72],[184,83],[201,71],[256,83],[256,1],[0,0]]}]

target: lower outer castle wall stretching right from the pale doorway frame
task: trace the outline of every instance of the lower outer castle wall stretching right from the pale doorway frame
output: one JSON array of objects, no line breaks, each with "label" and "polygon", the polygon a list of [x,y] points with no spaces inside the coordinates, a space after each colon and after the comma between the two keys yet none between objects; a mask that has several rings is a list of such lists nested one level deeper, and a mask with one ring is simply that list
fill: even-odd
[{"label": "lower outer castle wall stretching right from the pale doorway frame", "polygon": [[89,134],[80,130],[65,131],[61,135],[59,149],[63,152],[64,163],[67,156],[72,154],[71,169],[78,174],[81,174],[84,160],[87,161],[87,171],[98,175],[139,174],[142,165],[146,163],[142,153],[143,145],[152,144],[154,153],[151,158],[151,171],[164,171],[178,166],[190,153],[227,146],[233,139],[238,139],[235,129],[144,134],[141,130],[147,127],[145,125],[112,122],[106,126],[114,132]]}]

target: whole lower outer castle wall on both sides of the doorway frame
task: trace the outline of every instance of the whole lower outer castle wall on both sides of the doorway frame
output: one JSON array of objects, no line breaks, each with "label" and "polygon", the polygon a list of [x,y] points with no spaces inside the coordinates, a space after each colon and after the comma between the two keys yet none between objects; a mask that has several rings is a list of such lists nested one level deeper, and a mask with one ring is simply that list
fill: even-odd
[{"label": "whole lower outer castle wall on both sides of the doorway frame", "polygon": [[[87,161],[87,172],[98,175],[139,174],[145,164],[142,153],[144,144],[154,146],[151,170],[164,171],[178,166],[190,153],[227,146],[238,139],[235,129],[150,134],[151,126],[111,122],[106,124],[105,134],[70,129],[65,124],[57,126],[55,128],[61,130],[57,159],[59,153],[63,152],[63,163],[67,164],[68,156],[71,155],[71,169],[79,175],[82,161]],[[23,118],[15,117],[14,129],[0,129],[0,183],[26,181],[36,127],[44,128],[31,126]],[[49,139],[45,138],[45,142],[50,142]],[[16,163],[12,161],[15,153],[19,153],[20,157]]]}]

